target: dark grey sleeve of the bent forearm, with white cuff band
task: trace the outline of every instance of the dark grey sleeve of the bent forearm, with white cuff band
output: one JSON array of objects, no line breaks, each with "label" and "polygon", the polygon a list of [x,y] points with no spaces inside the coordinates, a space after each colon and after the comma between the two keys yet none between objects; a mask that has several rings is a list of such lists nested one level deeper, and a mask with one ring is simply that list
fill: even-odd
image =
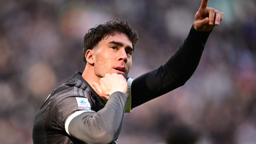
[{"label": "dark grey sleeve of the bent forearm, with white cuff band", "polygon": [[114,92],[97,113],[76,112],[67,118],[65,128],[79,144],[110,144],[121,132],[128,94]]}]

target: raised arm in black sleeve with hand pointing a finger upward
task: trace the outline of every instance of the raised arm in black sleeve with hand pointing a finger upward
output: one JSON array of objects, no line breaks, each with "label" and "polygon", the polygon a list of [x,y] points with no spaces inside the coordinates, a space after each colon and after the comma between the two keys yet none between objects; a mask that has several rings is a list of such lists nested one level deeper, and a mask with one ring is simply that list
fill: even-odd
[{"label": "raised arm in black sleeve with hand pointing a finger upward", "polygon": [[131,108],[183,86],[196,70],[211,30],[220,24],[224,14],[207,8],[202,0],[187,39],[175,54],[159,68],[134,79],[131,85]]}]

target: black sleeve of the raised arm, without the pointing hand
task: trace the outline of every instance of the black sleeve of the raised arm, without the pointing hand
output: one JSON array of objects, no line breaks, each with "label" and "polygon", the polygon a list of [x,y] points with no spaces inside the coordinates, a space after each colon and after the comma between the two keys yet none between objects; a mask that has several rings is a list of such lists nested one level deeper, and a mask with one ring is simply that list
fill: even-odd
[{"label": "black sleeve of the raised arm, without the pointing hand", "polygon": [[196,70],[210,33],[198,32],[192,26],[184,43],[166,63],[134,79],[131,108],[183,86]]}]

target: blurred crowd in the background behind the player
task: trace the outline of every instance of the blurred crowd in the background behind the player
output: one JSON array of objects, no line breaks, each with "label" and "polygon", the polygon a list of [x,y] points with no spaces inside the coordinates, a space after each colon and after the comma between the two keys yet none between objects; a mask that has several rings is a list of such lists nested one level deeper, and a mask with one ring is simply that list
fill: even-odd
[{"label": "blurred crowd in the background behind the player", "polygon": [[[201,0],[0,0],[0,144],[32,144],[49,93],[82,72],[83,36],[115,18],[139,33],[129,77],[182,44]],[[191,79],[125,115],[120,144],[256,144],[256,0],[209,0],[224,12]],[[179,132],[181,134],[179,134]],[[185,142],[182,142],[185,143]]]}]

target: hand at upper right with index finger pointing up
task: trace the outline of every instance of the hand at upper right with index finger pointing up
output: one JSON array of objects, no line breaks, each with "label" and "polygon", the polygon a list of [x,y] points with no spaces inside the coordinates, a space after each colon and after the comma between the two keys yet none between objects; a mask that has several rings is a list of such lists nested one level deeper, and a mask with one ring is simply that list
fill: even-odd
[{"label": "hand at upper right with index finger pointing up", "polygon": [[219,26],[223,20],[224,13],[214,8],[207,7],[208,0],[202,0],[199,10],[195,14],[194,29],[197,31],[210,31],[215,26]]}]

